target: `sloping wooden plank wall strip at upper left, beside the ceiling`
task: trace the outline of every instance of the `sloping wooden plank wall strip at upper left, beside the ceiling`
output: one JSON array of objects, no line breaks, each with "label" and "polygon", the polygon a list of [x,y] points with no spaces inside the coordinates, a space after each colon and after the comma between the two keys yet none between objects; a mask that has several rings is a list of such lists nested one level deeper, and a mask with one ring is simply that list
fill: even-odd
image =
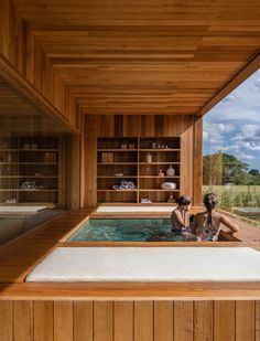
[{"label": "sloping wooden plank wall strip at upper left, beside the ceiling", "polygon": [[[0,54],[19,71],[61,114],[76,127],[76,107],[66,106],[64,82],[46,58],[11,0],[0,1]],[[18,107],[19,108],[19,107]]]}]

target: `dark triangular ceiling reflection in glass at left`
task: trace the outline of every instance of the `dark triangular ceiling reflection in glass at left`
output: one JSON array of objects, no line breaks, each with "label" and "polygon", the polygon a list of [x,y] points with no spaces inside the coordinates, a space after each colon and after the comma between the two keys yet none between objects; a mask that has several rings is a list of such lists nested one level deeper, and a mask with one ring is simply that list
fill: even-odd
[{"label": "dark triangular ceiling reflection in glass at left", "polygon": [[0,137],[47,136],[63,131],[65,129],[57,121],[41,113],[0,78]]}]

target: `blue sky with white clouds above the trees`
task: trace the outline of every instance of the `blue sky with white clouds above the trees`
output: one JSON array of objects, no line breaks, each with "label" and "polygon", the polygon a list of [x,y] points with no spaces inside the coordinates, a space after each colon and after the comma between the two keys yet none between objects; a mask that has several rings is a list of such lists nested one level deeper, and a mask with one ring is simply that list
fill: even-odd
[{"label": "blue sky with white clouds above the trees", "polygon": [[203,153],[221,150],[260,171],[260,70],[204,116]]}]

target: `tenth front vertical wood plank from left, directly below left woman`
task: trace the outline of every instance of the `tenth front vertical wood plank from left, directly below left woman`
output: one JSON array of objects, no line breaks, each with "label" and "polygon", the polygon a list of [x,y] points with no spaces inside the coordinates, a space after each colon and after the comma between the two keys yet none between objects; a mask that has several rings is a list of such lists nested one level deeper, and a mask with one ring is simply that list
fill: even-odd
[{"label": "tenth front vertical wood plank from left, directly below left woman", "polygon": [[192,301],[174,301],[174,340],[193,340]]}]

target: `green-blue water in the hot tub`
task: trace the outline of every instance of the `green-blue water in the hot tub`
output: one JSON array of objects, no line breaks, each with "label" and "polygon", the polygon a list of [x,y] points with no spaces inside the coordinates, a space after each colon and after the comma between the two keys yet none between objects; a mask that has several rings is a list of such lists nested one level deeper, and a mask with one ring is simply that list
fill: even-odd
[{"label": "green-blue water in the hot tub", "polygon": [[183,242],[169,219],[89,220],[68,242]]}]

